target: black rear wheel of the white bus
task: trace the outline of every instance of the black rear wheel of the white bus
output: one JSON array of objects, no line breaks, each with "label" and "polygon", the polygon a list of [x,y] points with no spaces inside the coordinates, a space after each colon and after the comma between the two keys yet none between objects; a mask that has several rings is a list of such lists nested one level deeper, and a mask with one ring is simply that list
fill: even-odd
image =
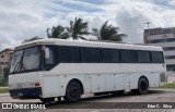
[{"label": "black rear wheel of the white bus", "polygon": [[149,82],[147,78],[141,77],[138,82],[138,89],[133,89],[133,94],[145,95],[149,91]]}]

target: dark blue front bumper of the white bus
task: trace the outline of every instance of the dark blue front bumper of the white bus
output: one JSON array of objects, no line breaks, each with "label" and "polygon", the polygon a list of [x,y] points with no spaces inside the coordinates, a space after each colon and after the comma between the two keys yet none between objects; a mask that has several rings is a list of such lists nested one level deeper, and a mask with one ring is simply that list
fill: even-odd
[{"label": "dark blue front bumper of the white bus", "polygon": [[38,99],[42,96],[42,87],[10,89],[13,99]]}]

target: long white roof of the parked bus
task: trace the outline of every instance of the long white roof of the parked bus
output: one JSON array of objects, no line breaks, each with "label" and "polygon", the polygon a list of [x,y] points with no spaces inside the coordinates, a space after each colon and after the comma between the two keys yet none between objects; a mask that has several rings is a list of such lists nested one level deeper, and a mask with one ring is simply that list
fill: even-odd
[{"label": "long white roof of the parked bus", "polygon": [[116,48],[116,49],[136,49],[136,50],[151,50],[163,51],[161,47],[119,43],[119,42],[103,42],[103,41],[83,41],[83,40],[68,40],[68,39],[38,39],[20,45],[16,49],[31,47],[34,45],[60,45],[60,46],[75,46],[75,47],[93,47],[93,48]]}]

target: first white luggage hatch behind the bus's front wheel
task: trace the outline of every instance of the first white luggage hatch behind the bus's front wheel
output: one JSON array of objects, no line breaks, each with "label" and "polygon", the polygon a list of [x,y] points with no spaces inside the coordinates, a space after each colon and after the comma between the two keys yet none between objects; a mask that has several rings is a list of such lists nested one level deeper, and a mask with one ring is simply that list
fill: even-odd
[{"label": "first white luggage hatch behind the bus's front wheel", "polygon": [[104,74],[94,74],[91,75],[91,88],[92,92],[105,91],[105,75]]}]

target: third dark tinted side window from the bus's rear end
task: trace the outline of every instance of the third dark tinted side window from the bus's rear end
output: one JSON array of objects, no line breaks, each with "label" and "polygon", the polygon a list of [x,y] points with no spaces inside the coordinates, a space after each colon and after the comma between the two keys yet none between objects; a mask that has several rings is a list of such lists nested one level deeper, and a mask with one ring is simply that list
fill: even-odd
[{"label": "third dark tinted side window from the bus's rear end", "polygon": [[136,54],[133,50],[120,50],[121,62],[124,63],[135,63]]}]

